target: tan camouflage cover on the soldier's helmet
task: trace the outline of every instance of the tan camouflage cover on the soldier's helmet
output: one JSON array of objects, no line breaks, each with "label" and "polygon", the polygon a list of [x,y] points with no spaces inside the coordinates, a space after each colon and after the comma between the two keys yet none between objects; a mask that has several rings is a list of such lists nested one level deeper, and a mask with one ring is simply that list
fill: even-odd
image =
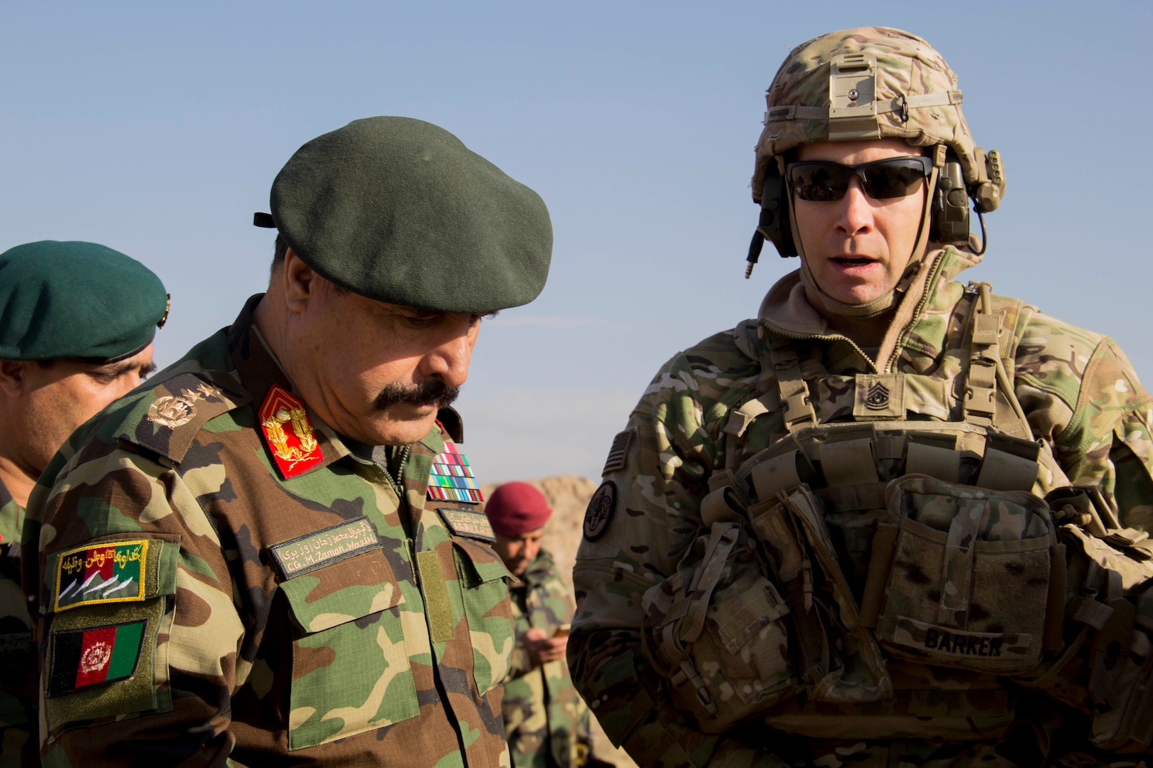
[{"label": "tan camouflage cover on the soldier's helmet", "polygon": [[987,159],[973,144],[960,112],[957,75],[915,35],[860,26],[814,38],[792,50],[766,100],[753,173],[756,203],[768,164],[789,150],[812,142],[875,138],[948,145],[984,211],[995,210],[1004,192],[998,158]]}]

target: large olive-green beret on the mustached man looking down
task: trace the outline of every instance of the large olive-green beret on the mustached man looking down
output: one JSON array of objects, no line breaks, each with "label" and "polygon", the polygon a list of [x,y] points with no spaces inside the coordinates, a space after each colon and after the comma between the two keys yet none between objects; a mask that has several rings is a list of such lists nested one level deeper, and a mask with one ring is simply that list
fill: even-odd
[{"label": "large olive-green beret on the mustached man looking down", "polygon": [[272,220],[332,282],[439,312],[532,302],[552,253],[536,192],[410,117],[356,120],[300,147],[272,182]]}]

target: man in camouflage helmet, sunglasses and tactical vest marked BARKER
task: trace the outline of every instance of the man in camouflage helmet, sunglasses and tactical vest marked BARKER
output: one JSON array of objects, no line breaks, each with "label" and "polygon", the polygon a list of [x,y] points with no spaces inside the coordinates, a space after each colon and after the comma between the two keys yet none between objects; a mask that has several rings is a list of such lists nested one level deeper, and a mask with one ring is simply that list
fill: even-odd
[{"label": "man in camouflage helmet, sunglasses and tactical vest marked BARKER", "polygon": [[773,81],[758,239],[800,269],[657,373],[574,570],[573,678],[641,765],[1147,759],[1153,401],[955,280],[1004,192],[960,100],[892,29]]}]

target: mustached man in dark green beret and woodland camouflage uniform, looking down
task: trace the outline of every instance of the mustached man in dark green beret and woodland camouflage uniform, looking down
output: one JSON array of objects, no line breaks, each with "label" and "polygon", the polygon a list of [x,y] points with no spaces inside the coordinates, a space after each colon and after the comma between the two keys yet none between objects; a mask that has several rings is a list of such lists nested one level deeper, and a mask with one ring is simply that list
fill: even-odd
[{"label": "mustached man in dark green beret and woodland camouflage uniform, looking down", "polygon": [[406,117],[304,144],[271,203],[267,292],[37,486],[42,753],[507,766],[511,577],[449,403],[548,211]]}]

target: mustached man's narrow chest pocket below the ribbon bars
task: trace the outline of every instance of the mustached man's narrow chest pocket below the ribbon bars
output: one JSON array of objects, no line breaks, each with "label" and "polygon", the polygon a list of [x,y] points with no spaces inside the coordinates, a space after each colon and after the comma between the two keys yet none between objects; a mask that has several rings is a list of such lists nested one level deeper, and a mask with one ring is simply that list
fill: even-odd
[{"label": "mustached man's narrow chest pocket below the ribbon bars", "polygon": [[473,647],[473,682],[476,692],[483,694],[508,675],[515,642],[508,603],[508,581],[513,577],[491,548],[462,537],[453,537],[452,543]]}]

